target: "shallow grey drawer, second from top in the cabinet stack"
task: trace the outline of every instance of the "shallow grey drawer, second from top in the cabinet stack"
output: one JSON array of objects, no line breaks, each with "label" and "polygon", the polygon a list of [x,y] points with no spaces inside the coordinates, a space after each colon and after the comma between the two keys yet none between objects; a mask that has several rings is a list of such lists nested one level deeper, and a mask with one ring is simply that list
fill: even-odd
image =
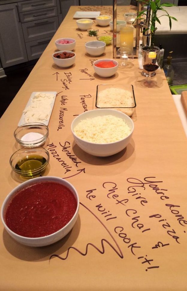
[{"label": "shallow grey drawer, second from top in the cabinet stack", "polygon": [[54,16],[58,16],[57,7],[50,7],[50,8],[20,13],[20,19],[22,23],[33,21],[33,20],[39,20],[43,18],[48,18],[48,17],[54,17]]}]

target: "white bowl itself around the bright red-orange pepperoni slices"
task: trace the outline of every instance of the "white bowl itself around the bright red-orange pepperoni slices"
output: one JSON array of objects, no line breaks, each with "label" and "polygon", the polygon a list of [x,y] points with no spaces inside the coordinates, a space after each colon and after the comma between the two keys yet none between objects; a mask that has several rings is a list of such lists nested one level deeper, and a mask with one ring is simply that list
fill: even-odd
[{"label": "white bowl itself around the bright red-orange pepperoni slices", "polygon": [[[112,68],[99,68],[96,66],[99,62],[113,62],[115,67]],[[114,59],[99,59],[93,63],[94,71],[101,77],[107,78],[113,76],[118,68],[118,62]]]}]

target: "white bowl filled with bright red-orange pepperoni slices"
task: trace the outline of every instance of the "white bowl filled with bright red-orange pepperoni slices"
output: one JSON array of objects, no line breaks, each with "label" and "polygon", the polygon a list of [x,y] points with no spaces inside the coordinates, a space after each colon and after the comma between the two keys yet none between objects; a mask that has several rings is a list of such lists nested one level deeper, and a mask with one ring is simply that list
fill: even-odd
[{"label": "white bowl filled with bright red-orange pepperoni slices", "polygon": [[117,72],[118,62],[114,59],[99,59],[93,62],[93,68],[100,77],[111,77]]}]

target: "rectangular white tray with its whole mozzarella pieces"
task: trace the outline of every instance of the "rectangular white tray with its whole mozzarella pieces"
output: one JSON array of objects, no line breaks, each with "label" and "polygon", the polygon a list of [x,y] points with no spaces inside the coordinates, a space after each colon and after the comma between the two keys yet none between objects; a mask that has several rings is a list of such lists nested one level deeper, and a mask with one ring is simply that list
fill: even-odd
[{"label": "rectangular white tray with its whole mozzarella pieces", "polygon": [[32,122],[48,125],[56,94],[57,92],[55,91],[32,92],[18,126]]}]

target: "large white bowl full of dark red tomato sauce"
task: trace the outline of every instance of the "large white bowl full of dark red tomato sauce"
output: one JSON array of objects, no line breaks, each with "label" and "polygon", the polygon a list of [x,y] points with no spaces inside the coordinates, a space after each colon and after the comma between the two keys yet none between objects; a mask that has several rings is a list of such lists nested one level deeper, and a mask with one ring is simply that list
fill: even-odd
[{"label": "large white bowl full of dark red tomato sauce", "polygon": [[1,220],[21,244],[43,247],[59,241],[73,228],[79,212],[74,186],[58,177],[37,177],[14,188],[5,198]]}]

